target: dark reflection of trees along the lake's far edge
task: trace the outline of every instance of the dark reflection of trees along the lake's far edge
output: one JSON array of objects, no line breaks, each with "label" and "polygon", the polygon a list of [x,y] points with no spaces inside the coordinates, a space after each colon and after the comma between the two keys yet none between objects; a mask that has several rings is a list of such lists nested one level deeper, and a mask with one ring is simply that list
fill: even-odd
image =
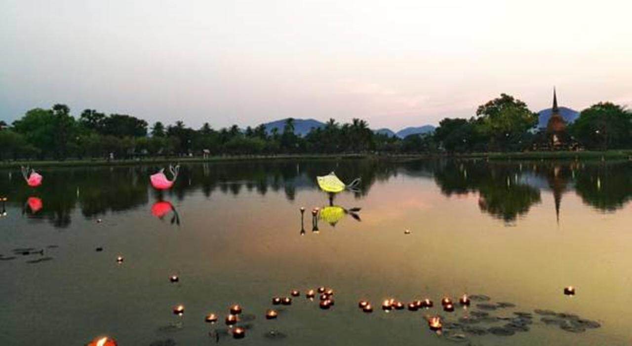
[{"label": "dark reflection of trees along the lake's far edge", "polygon": [[[172,189],[155,191],[150,186],[149,176],[159,168],[157,165],[139,165],[40,169],[46,174],[48,183],[38,188],[37,196],[32,196],[32,189],[20,179],[13,179],[11,171],[3,170],[0,195],[9,200],[6,208],[3,202],[1,213],[10,212],[13,207],[23,210],[23,215],[32,222],[47,221],[54,227],[67,227],[75,209],[85,218],[97,218],[140,208],[154,200],[165,202],[156,207],[164,210],[169,203],[167,213],[173,212],[173,223],[178,224],[178,213],[167,200],[181,201],[196,193],[210,198],[217,192],[233,196],[271,192],[283,193],[287,200],[293,201],[301,191],[319,189],[316,176],[332,170],[343,180],[362,179],[358,191],[353,193],[356,199],[362,199],[374,184],[388,179],[434,179],[445,196],[476,196],[481,212],[509,224],[540,203],[542,191],[552,194],[555,205],[552,213],[558,220],[564,194],[571,191],[578,194],[583,203],[602,212],[619,210],[632,198],[631,162],[288,160],[192,164],[182,166],[178,182]],[[44,200],[46,204],[42,202]],[[319,215],[332,225],[345,215],[359,220],[351,208],[336,206],[331,200]],[[166,213],[162,214],[165,216]],[[318,218],[312,220],[315,232],[318,231]],[[301,232],[304,232],[303,222],[301,225]]]}]

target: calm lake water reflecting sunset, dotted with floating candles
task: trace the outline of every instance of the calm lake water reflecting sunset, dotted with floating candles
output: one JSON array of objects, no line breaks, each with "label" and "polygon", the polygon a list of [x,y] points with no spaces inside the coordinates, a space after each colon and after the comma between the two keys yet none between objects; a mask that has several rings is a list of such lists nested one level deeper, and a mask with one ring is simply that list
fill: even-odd
[{"label": "calm lake water reflecting sunset, dotted with floating candles", "polygon": [[[191,164],[159,192],[149,176],[161,168],[42,167],[35,189],[0,170],[1,345],[632,340],[632,162]],[[361,177],[359,191],[330,199],[316,176],[331,171]],[[305,298],[320,286],[334,290],[330,309]],[[292,289],[291,305],[272,305]],[[456,302],[464,293],[468,308]],[[432,309],[382,311],[385,299],[426,297]],[[224,325],[232,304],[243,307],[241,340]],[[265,319],[270,308],[277,319]],[[441,334],[428,328],[435,315]]]}]

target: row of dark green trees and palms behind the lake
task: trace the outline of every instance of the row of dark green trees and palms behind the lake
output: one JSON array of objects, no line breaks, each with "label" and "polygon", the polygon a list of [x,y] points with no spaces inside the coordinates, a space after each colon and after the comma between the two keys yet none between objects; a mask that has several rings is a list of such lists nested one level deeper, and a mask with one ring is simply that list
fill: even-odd
[{"label": "row of dark green trees and palms behind the lake", "polygon": [[[465,153],[520,152],[548,141],[536,129],[538,114],[525,102],[501,94],[480,105],[470,119],[445,118],[433,133],[406,138],[374,133],[368,122],[353,119],[340,124],[329,119],[305,136],[295,134],[294,120],[267,131],[263,124],[199,129],[176,121],[165,126],[127,114],[106,115],[86,109],[71,115],[64,104],[32,109],[10,126],[0,121],[0,160],[18,158],[134,158],[142,156],[274,155],[279,153]],[[621,105],[600,102],[582,110],[568,133],[583,148],[607,150],[632,147],[632,112]]]}]

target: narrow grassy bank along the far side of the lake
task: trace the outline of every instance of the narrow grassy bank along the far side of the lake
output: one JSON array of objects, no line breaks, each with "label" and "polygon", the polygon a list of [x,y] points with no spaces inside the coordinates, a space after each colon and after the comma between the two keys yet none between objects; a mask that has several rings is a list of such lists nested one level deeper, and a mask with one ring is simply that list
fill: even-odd
[{"label": "narrow grassy bank along the far side of the lake", "polygon": [[71,160],[8,160],[0,162],[0,169],[16,168],[30,165],[32,167],[79,167],[79,166],[119,166],[146,165],[178,162],[186,163],[216,163],[242,161],[274,161],[274,160],[345,160],[345,159],[384,159],[410,160],[423,158],[456,158],[456,159],[486,159],[486,160],[632,160],[632,150],[607,150],[605,152],[507,152],[507,153],[461,153],[449,155],[447,153],[418,153],[403,155],[379,155],[373,153],[358,154],[287,154],[287,155],[234,155],[203,157],[152,157],[121,160],[107,159],[71,159]]}]

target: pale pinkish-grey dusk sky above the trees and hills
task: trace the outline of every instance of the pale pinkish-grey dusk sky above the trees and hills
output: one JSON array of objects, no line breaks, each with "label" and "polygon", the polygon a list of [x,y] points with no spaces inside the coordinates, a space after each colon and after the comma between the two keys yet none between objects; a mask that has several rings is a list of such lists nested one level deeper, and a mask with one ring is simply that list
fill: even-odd
[{"label": "pale pinkish-grey dusk sky above the trees and hills", "polygon": [[0,0],[0,119],[67,104],[197,128],[632,105],[632,1]]}]

